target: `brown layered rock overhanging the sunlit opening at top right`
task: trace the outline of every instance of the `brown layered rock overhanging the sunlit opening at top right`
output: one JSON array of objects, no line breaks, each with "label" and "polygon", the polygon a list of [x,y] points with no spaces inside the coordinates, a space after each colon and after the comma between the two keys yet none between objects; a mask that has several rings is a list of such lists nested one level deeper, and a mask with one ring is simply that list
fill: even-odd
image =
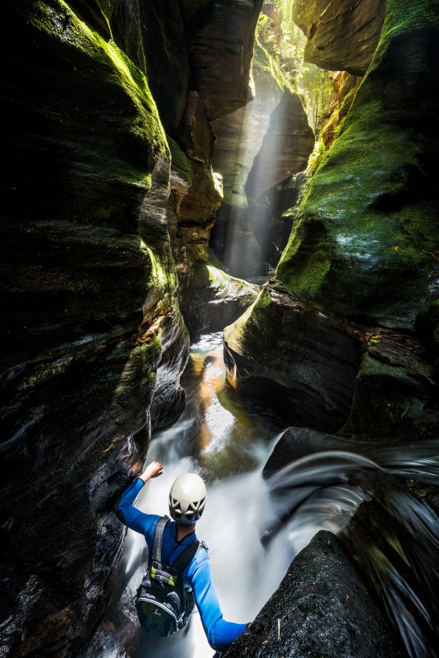
[{"label": "brown layered rock overhanging the sunlit opening at top right", "polygon": [[364,75],[378,45],[385,0],[295,0],[293,20],[307,36],[305,61]]}]

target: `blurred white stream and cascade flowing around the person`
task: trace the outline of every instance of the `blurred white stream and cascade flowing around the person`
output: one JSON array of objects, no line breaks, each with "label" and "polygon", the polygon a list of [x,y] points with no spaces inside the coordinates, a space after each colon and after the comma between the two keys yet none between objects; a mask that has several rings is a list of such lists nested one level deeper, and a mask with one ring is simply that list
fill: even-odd
[{"label": "blurred white stream and cascade flowing around the person", "polygon": [[[183,414],[153,437],[148,451],[148,461],[164,465],[163,474],[141,490],[137,506],[168,514],[169,488],[177,475],[193,470],[206,480],[206,511],[197,523],[197,537],[208,545],[224,618],[252,620],[298,551],[318,530],[330,530],[367,572],[408,655],[436,656],[438,517],[395,476],[437,484],[439,443],[406,450],[369,446],[368,455],[321,452],[264,480],[262,469],[280,428],[266,413],[246,411],[228,394],[222,334],[192,345],[182,384],[187,392]],[[346,529],[364,500],[386,516],[380,546],[367,535],[371,528],[361,541],[357,530]],[[82,658],[212,657],[197,612],[188,631],[167,640],[151,641],[139,630],[133,598],[145,560],[144,537],[129,530],[111,602]]]}]

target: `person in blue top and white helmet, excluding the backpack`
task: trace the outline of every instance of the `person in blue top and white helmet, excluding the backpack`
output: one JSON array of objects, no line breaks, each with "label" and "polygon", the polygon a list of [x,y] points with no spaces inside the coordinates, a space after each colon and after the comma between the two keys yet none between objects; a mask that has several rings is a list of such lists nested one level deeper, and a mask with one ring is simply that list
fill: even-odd
[{"label": "person in blue top and white helmet, excluding the backpack", "polygon": [[[160,519],[157,514],[145,514],[134,507],[139,491],[144,484],[154,477],[162,475],[160,461],[152,461],[132,484],[125,489],[116,501],[114,511],[125,526],[144,535],[148,545],[148,560],[151,563],[152,542],[155,525]],[[162,542],[162,562],[170,564],[187,544],[196,542],[195,524],[203,514],[206,504],[206,485],[196,473],[179,475],[169,491],[169,514],[171,522],[167,524]],[[245,631],[249,624],[229,622],[223,618],[221,607],[212,579],[210,577],[210,560],[206,547],[195,554],[190,564],[183,571],[185,587],[192,590],[195,603],[200,613],[201,623],[213,650],[225,652],[231,643]]]}]

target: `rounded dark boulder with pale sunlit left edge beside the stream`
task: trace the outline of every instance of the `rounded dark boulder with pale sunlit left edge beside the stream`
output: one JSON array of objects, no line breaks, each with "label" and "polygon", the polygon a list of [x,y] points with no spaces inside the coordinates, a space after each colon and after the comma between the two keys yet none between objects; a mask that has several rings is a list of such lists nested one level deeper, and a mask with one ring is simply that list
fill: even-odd
[{"label": "rounded dark boulder with pale sunlit left edge beside the stream", "polygon": [[336,431],[348,417],[360,341],[344,323],[275,280],[224,330],[227,379],[287,422]]}]

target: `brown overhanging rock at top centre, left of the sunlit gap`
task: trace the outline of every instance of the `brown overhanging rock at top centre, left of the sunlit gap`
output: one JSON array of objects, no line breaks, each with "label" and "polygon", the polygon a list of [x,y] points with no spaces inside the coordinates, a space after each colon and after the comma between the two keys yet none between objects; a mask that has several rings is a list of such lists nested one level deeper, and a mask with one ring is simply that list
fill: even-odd
[{"label": "brown overhanging rock at top centre, left of the sunlit gap", "polygon": [[250,67],[262,4],[263,0],[180,0],[194,85],[210,120],[253,98]]}]

